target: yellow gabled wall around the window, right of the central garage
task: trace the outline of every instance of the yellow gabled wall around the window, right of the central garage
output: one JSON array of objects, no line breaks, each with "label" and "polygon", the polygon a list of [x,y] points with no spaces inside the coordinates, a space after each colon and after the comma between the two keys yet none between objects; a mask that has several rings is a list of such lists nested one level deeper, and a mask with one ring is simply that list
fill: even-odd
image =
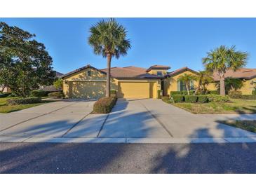
[{"label": "yellow gabled wall around the window, right of the central garage", "polygon": [[[170,95],[170,91],[177,91],[177,79],[182,76],[183,74],[192,74],[196,75],[191,71],[184,71],[180,74],[175,76],[170,76],[169,78],[164,79],[164,86],[163,86],[163,95]],[[194,81],[194,88],[196,88],[198,83]]]}]

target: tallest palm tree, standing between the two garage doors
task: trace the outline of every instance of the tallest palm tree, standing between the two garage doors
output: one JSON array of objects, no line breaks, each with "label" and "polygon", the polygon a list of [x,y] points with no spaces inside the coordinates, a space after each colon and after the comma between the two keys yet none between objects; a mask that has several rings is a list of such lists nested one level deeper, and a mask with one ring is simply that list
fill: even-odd
[{"label": "tallest palm tree, standing between the two garage doors", "polygon": [[126,28],[111,18],[101,20],[90,27],[88,43],[93,47],[96,55],[107,57],[107,90],[106,97],[110,97],[110,68],[112,57],[118,59],[126,55],[130,48],[130,41],[126,39]]}]

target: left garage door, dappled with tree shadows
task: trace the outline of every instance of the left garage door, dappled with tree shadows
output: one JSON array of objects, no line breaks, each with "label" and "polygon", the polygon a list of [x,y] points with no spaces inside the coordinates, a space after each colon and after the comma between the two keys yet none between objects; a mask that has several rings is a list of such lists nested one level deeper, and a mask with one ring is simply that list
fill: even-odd
[{"label": "left garage door, dappled with tree shadows", "polygon": [[96,99],[106,94],[106,82],[73,82],[72,97]]}]

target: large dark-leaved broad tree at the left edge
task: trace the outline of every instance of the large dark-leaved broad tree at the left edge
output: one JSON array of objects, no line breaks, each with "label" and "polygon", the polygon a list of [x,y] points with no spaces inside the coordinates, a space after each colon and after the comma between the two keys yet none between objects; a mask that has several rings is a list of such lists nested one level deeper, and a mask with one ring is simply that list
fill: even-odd
[{"label": "large dark-leaved broad tree at the left edge", "polygon": [[0,22],[0,84],[27,97],[39,85],[52,85],[52,58],[35,35]]}]

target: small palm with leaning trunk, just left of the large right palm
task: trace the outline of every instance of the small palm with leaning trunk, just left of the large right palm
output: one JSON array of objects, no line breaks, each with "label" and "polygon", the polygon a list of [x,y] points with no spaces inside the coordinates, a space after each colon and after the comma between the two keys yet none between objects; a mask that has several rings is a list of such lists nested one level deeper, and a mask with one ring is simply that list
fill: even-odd
[{"label": "small palm with leaning trunk, just left of the large right palm", "polygon": [[213,82],[213,76],[209,71],[199,71],[194,78],[198,82],[194,95],[198,90],[206,90],[206,85]]}]

